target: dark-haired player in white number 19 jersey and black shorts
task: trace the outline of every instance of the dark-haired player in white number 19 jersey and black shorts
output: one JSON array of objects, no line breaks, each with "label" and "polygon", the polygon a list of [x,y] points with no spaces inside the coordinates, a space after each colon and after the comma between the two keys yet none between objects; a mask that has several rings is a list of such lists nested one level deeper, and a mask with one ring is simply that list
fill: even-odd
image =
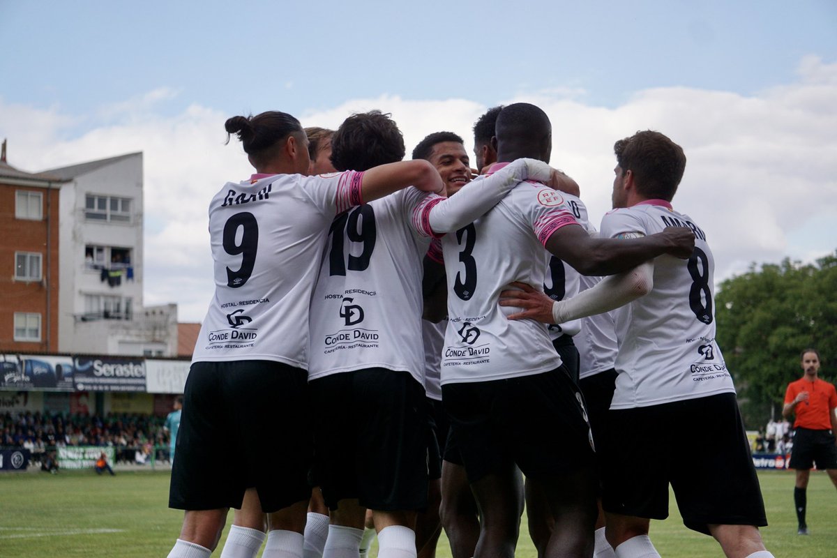
[{"label": "dark-haired player in white number 19 jersey and black shorts", "polygon": [[[331,141],[337,169],[403,157],[379,111],[349,117]],[[406,189],[338,216],[311,302],[309,381],[317,409],[315,479],[332,510],[324,556],[357,549],[372,509],[380,556],[415,555],[428,496],[421,344],[422,259],[430,238],[487,211],[540,161],[472,182],[451,199]]]}]

